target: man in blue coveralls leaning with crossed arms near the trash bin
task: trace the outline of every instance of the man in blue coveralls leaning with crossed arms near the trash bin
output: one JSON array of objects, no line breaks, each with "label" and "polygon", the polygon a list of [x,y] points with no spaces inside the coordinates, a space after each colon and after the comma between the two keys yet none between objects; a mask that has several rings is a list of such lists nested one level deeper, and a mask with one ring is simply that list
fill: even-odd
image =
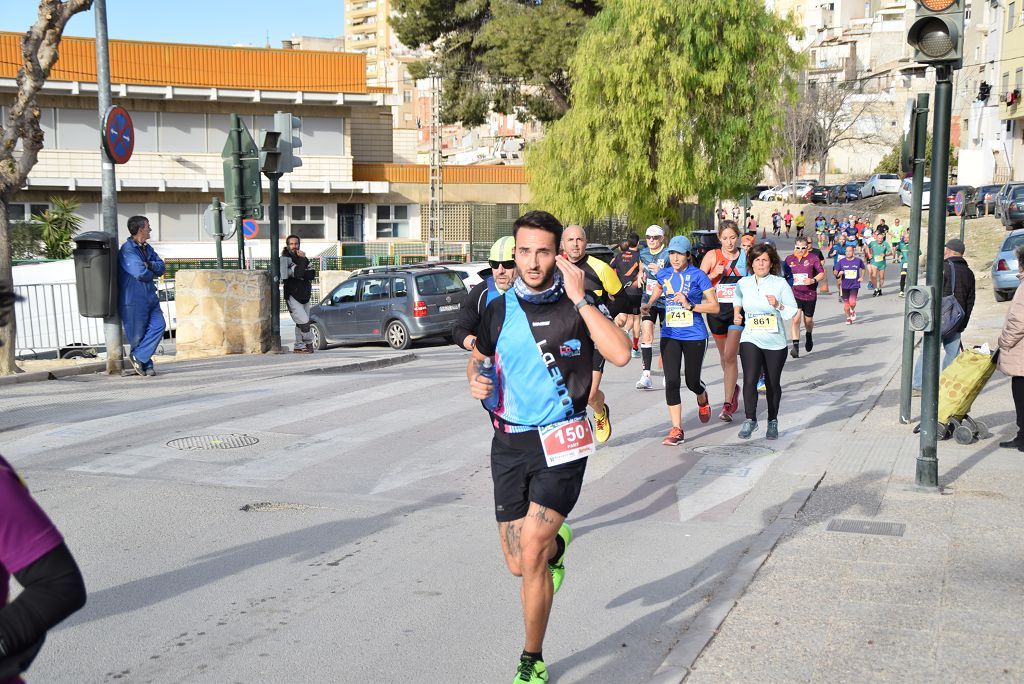
[{"label": "man in blue coveralls leaning with crossed arms near the trash bin", "polygon": [[131,234],[121,246],[118,259],[118,311],[131,347],[128,360],[140,376],[155,376],[153,354],[164,337],[164,313],[160,310],[155,279],[164,274],[164,260],[157,256],[150,240],[150,219],[128,219]]}]

